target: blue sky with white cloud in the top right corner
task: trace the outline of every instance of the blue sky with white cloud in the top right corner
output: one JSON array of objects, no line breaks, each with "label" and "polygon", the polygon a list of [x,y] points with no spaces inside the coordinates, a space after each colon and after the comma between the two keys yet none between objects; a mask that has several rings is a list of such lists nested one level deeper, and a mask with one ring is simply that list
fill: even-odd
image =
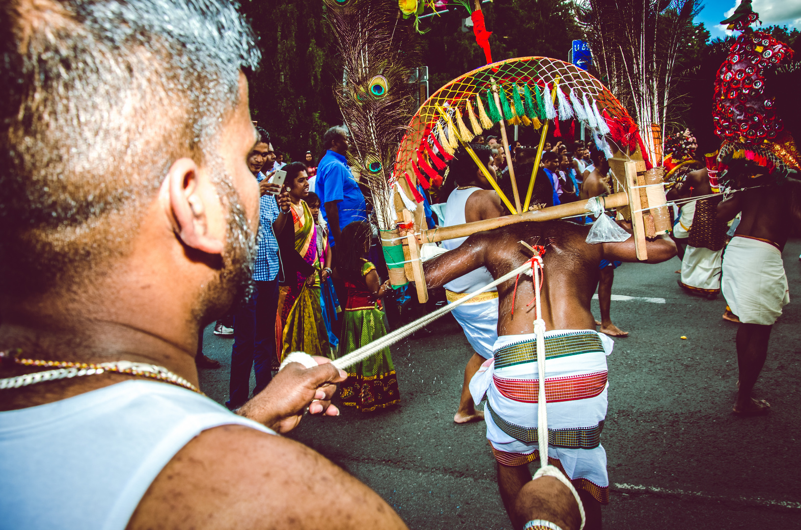
[{"label": "blue sky with white cloud in the top right corner", "polygon": [[[728,18],[739,6],[740,0],[706,0],[703,10],[695,17],[695,22],[703,22],[711,38],[725,37],[726,26],[718,24]],[[759,13],[763,26],[788,26],[801,30],[801,0],[753,0],[751,6]]]}]

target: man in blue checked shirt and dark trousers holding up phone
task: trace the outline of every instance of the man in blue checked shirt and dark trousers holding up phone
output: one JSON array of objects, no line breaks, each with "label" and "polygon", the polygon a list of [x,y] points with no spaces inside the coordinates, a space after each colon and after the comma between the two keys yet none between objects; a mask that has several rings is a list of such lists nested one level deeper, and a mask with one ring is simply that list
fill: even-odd
[{"label": "man in blue checked shirt and dark trousers holding up phone", "polygon": [[[280,259],[275,231],[284,227],[289,216],[289,194],[271,195],[279,191],[268,183],[261,172],[272,153],[267,131],[256,127],[259,141],[248,155],[248,167],[260,183],[259,235],[256,263],[253,265],[253,295],[234,315],[234,345],[231,348],[231,384],[227,408],[234,410],[248,401],[251,367],[256,370],[253,395],[264,390],[272,379],[272,363],[276,359],[276,313],[278,312],[278,271]],[[272,172],[270,173],[272,176]]]}]

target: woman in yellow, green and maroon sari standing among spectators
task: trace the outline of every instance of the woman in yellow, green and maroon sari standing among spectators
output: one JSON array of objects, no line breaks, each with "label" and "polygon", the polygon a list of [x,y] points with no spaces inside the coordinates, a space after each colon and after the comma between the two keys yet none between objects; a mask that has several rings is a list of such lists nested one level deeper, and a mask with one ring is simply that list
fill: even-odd
[{"label": "woman in yellow, green and maroon sari standing among spectators", "polygon": [[289,208],[292,223],[285,223],[284,230],[276,234],[282,268],[276,351],[282,361],[290,351],[330,358],[331,348],[320,309],[320,278],[327,279],[330,270],[320,267],[316,223],[304,201],[308,197],[306,167],[293,162],[284,171],[287,172],[284,186],[292,201]]}]

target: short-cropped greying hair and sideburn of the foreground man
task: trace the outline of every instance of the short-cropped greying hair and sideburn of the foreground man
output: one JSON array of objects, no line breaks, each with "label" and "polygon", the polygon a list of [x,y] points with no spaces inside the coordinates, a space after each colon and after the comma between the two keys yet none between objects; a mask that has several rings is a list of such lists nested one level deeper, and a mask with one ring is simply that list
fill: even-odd
[{"label": "short-cropped greying hair and sideburn of the foreground man", "polygon": [[215,152],[240,69],[260,60],[235,5],[12,0],[0,15],[4,289],[46,288],[124,254],[184,156],[215,170],[229,225],[242,223]]}]

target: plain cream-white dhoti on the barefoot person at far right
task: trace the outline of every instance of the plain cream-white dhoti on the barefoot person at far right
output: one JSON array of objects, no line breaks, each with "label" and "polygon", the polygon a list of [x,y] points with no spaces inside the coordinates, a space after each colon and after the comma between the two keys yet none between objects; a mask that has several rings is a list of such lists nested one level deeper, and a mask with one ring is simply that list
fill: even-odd
[{"label": "plain cream-white dhoti on the barefoot person at far right", "polygon": [[790,303],[782,252],[771,243],[735,235],[723,255],[721,290],[740,322],[775,323]]}]

